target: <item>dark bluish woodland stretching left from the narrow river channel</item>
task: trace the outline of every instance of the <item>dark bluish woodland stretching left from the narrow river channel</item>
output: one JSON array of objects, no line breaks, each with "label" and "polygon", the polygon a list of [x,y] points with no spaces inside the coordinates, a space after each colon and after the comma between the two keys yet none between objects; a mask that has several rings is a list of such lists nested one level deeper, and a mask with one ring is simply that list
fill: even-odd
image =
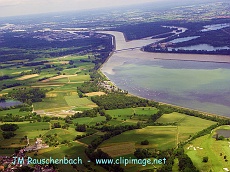
[{"label": "dark bluish woodland stretching left from the narrow river channel", "polygon": [[[41,33],[42,34],[42,33]],[[47,41],[35,39],[31,34],[18,35],[18,33],[4,33],[4,41],[1,43],[0,61],[21,60],[42,57],[59,57],[69,54],[106,52],[112,50],[111,36],[98,38],[92,36],[85,39],[67,40],[67,41]],[[12,44],[14,42],[14,44]],[[101,45],[103,49],[99,49]]]}]

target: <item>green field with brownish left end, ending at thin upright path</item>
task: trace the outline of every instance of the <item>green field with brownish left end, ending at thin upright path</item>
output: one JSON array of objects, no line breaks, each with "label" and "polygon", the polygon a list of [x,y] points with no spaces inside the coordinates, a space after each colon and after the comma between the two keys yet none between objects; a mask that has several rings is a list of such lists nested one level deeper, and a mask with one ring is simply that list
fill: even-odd
[{"label": "green field with brownish left end, ending at thin upright path", "polygon": [[[111,146],[112,148],[115,148],[122,144],[132,144],[134,148],[157,148],[164,150],[176,146],[176,131],[176,126],[148,126],[143,129],[126,131],[105,141],[100,147],[104,148]],[[141,141],[144,141],[145,139],[149,141],[149,145],[142,146]],[[128,147],[126,148],[128,149]],[[133,152],[133,150],[130,151],[130,153]]]}]

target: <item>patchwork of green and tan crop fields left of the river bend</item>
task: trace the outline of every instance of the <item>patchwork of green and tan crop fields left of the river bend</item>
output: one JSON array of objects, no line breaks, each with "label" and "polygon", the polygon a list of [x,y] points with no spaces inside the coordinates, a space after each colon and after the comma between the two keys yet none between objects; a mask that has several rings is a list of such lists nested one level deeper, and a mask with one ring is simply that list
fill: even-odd
[{"label": "patchwork of green and tan crop fields left of the river bend", "polygon": [[[7,79],[4,83],[1,84],[11,85],[15,82],[20,82],[25,86],[17,86],[14,88],[21,88],[21,87],[41,87],[44,89],[52,89],[48,92],[48,96],[42,102],[33,103],[33,107],[35,112],[38,114],[44,115],[73,115],[74,112],[69,112],[74,108],[81,108],[81,109],[91,109],[96,107],[92,101],[87,98],[80,99],[77,94],[72,94],[77,92],[77,86],[79,86],[84,81],[90,80],[89,69],[91,69],[94,64],[91,62],[82,62],[82,59],[87,59],[88,55],[84,56],[76,56],[76,55],[69,55],[64,57],[57,57],[57,58],[37,58],[34,59],[32,62],[41,62],[41,61],[48,61],[45,64],[38,65],[40,67],[44,67],[38,76],[33,78],[28,78],[20,81],[16,81],[15,79],[21,78],[24,76],[19,76],[21,72],[30,72],[31,67],[25,67],[23,64],[19,64],[19,61],[11,61],[9,64],[13,64],[14,66],[10,68],[3,68],[0,69],[0,76],[3,75],[12,75],[16,76],[17,78]],[[69,61],[72,60],[75,63],[75,67],[70,66]],[[25,63],[28,60],[24,61]],[[21,61],[20,61],[21,62]],[[4,64],[6,66],[6,64]],[[46,68],[46,65],[51,65],[50,67]],[[60,72],[60,78],[53,78],[53,76],[57,76],[57,72]],[[76,74],[78,73],[78,74]],[[29,73],[25,74],[25,77],[29,77]],[[43,78],[50,78],[48,81],[38,81],[38,79]],[[53,78],[53,79],[52,79]],[[0,84],[0,86],[2,86]],[[0,92],[8,93],[13,88],[4,89]],[[12,114],[19,114],[19,115],[26,115],[25,112],[16,112],[16,110],[10,111],[2,111],[0,112],[1,115],[5,115],[6,113]]]}]

